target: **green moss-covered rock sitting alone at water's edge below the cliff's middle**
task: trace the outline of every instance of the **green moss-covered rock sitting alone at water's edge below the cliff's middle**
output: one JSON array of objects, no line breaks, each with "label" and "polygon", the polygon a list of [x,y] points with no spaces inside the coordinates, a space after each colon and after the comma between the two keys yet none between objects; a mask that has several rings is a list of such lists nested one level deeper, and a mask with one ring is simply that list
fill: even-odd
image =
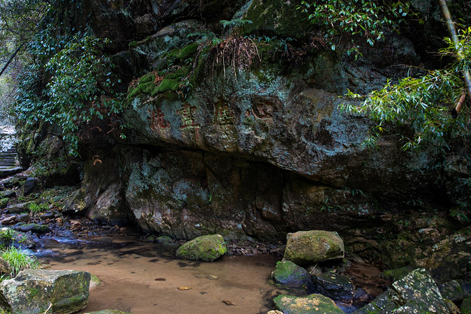
[{"label": "green moss-covered rock sitting alone at water's edge below the cliff's middle", "polygon": [[214,261],[227,251],[224,238],[220,234],[198,236],[178,247],[176,255],[196,261]]}]

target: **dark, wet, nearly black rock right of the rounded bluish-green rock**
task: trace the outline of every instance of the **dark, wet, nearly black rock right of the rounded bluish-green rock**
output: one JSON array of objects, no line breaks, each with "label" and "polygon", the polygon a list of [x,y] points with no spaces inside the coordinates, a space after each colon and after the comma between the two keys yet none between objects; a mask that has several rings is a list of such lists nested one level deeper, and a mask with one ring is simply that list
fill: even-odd
[{"label": "dark, wet, nearly black rock right of the rounded bluish-green rock", "polygon": [[347,304],[353,302],[355,286],[350,278],[335,274],[334,272],[326,272],[313,276],[316,292]]}]

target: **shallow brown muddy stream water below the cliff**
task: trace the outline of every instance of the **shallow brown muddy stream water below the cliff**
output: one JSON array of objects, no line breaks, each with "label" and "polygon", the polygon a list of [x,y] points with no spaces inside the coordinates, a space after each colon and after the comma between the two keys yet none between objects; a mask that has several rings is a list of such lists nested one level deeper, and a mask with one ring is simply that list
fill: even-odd
[{"label": "shallow brown muddy stream water below the cliff", "polygon": [[42,239],[42,245],[36,254],[44,268],[86,270],[101,279],[80,313],[266,313],[273,297],[288,293],[267,282],[279,260],[269,254],[200,263],[175,259],[176,247],[119,234],[87,241]]}]

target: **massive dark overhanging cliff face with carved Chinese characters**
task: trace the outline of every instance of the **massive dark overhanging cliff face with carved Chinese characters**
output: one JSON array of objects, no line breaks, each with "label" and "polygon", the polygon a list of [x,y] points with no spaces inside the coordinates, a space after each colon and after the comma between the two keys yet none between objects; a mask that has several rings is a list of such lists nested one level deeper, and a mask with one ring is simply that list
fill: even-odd
[{"label": "massive dark overhanging cliff face with carved Chinese characters", "polygon": [[[85,209],[101,223],[135,221],[144,232],[173,238],[218,233],[276,242],[296,230],[336,231],[351,252],[388,268],[411,264],[427,249],[416,250],[417,243],[441,241],[446,228],[416,222],[434,216],[430,209],[445,217],[450,206],[470,203],[471,145],[408,154],[401,138],[388,134],[368,150],[361,146],[366,116],[338,107],[348,90],[368,94],[406,76],[402,64],[422,67],[427,55],[416,44],[446,35],[428,26],[438,23],[438,6],[418,8],[428,32],[386,33],[374,47],[361,45],[363,57],[354,60],[349,40],[324,48],[298,2],[74,6],[71,24],[89,17],[92,33],[112,41],[105,50],[114,53],[127,93],[128,127],[126,140],[84,143],[86,195],[71,210]],[[252,23],[238,27],[241,19]],[[401,232],[417,234],[405,247],[402,237],[391,239]],[[391,247],[405,248],[397,254]]]}]

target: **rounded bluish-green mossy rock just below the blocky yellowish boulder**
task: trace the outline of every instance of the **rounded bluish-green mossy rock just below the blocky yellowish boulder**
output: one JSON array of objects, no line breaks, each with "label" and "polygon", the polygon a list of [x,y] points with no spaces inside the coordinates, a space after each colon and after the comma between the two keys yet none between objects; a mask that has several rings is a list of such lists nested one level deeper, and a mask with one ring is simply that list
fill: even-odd
[{"label": "rounded bluish-green mossy rock just below the blocky yellowish boulder", "polygon": [[287,286],[311,286],[311,274],[304,268],[296,265],[292,261],[280,261],[276,264],[271,277],[278,284]]}]

